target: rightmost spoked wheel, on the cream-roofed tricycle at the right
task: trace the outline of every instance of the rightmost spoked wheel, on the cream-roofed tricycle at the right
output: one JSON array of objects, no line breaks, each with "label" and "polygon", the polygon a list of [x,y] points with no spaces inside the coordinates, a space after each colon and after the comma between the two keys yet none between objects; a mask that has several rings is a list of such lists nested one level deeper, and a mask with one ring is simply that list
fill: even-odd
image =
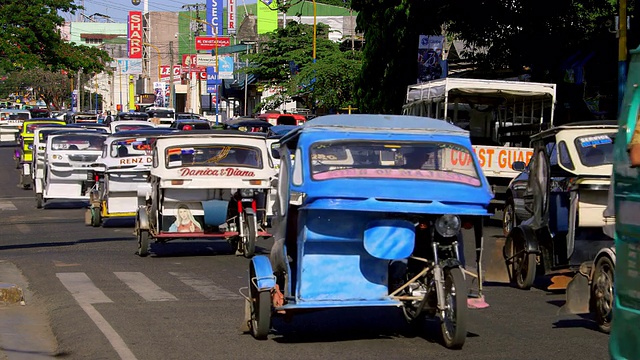
[{"label": "rightmost spoked wheel, on the cream-roofed tricycle at the right", "polygon": [[596,264],[591,288],[598,328],[607,334],[611,331],[611,315],[613,312],[613,270],[614,265],[610,258],[606,256],[600,258]]}]

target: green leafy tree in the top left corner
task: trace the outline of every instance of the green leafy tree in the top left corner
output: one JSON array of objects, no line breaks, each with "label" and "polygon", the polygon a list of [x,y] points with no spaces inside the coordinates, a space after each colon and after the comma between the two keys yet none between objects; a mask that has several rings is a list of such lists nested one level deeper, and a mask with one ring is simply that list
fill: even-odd
[{"label": "green leafy tree in the top left corner", "polygon": [[80,9],[70,0],[3,0],[0,11],[0,69],[102,72],[109,54],[97,48],[64,41],[58,12]]}]

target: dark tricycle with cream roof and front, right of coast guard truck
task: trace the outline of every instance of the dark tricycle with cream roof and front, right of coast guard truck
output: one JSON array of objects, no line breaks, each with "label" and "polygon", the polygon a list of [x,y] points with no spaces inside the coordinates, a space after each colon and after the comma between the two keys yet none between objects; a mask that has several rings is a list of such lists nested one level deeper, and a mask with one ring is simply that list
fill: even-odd
[{"label": "dark tricycle with cream roof and front, right of coast guard truck", "polygon": [[[509,232],[504,247],[510,278],[518,288],[533,285],[538,265],[544,275],[557,276],[559,284],[554,282],[549,289],[562,289],[565,274],[576,274],[575,282],[566,286],[567,296],[574,287],[582,288],[580,298],[585,301],[567,304],[574,307],[571,312],[577,312],[576,303],[591,307],[601,328],[611,304],[593,303],[594,294],[600,291],[598,286],[612,289],[613,284],[592,280],[612,279],[606,275],[613,274],[615,264],[604,211],[617,131],[615,122],[590,121],[558,126],[531,138],[534,155],[523,195],[531,217]],[[608,309],[607,314],[599,314],[597,308]]]}]

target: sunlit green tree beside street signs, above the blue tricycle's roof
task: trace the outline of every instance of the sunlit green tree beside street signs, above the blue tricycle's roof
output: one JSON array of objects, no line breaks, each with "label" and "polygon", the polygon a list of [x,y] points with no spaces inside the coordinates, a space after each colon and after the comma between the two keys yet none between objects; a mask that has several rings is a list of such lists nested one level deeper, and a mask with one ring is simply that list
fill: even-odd
[{"label": "sunlit green tree beside street signs, above the blue tricycle's roof", "polygon": [[[291,22],[268,34],[247,72],[256,75],[268,88],[281,89],[260,107],[274,109],[296,97],[309,108],[337,109],[353,105],[353,84],[360,69],[359,54],[341,52],[328,39],[329,27],[317,25],[316,59],[313,59],[313,27]],[[259,110],[259,109],[257,109]]]}]

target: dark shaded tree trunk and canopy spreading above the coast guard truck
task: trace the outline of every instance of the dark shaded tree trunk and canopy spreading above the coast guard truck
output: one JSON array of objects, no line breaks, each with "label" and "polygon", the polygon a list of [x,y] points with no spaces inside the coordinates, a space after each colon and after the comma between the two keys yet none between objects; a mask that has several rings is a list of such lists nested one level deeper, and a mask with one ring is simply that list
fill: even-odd
[{"label": "dark shaded tree trunk and canopy spreading above the coast guard truck", "polygon": [[[635,1],[628,1],[635,9]],[[416,81],[419,35],[462,40],[486,49],[465,56],[487,72],[530,72],[533,81],[561,81],[562,63],[579,51],[600,51],[603,77],[617,78],[617,39],[609,22],[612,0],[352,0],[366,39],[357,82],[366,112],[399,113],[406,87]],[[609,21],[609,22],[607,22]],[[598,60],[600,61],[600,60]],[[600,74],[595,74],[596,76]]]}]

